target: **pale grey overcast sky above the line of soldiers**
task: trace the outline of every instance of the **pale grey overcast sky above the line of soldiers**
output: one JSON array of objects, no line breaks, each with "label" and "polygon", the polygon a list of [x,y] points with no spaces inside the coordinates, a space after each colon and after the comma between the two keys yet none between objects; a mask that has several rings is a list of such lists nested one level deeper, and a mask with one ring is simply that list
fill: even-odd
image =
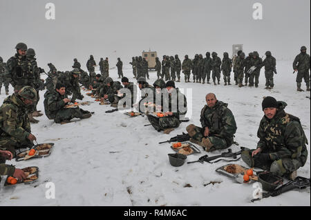
[{"label": "pale grey overcast sky above the line of soldiers", "polygon": [[[45,18],[49,2],[55,20]],[[263,4],[263,20],[252,18],[256,2]],[[126,65],[149,48],[160,60],[207,51],[231,56],[236,43],[261,57],[270,50],[276,59],[292,60],[303,45],[310,54],[310,0],[0,0],[0,27],[3,61],[23,42],[45,70],[49,62],[70,70],[73,58],[86,70],[90,54],[97,64],[109,57],[112,67],[120,57]]]}]

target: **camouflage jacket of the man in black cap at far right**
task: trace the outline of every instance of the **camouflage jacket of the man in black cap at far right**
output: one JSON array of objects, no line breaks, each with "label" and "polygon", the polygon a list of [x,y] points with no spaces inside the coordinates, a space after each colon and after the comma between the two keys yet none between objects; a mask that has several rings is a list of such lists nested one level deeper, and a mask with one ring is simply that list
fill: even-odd
[{"label": "camouflage jacket of the man in black cap at far right", "polygon": [[257,148],[269,152],[272,160],[299,159],[304,164],[308,157],[305,137],[300,120],[285,112],[287,104],[278,101],[279,108],[273,119],[263,116],[259,124]]}]

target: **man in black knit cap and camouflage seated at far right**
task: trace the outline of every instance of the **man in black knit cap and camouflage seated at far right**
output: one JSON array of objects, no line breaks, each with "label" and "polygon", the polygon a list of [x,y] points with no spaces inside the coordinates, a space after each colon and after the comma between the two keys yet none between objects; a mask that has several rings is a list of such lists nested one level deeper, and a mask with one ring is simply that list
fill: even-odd
[{"label": "man in black knit cap and camouflage seated at far right", "polygon": [[265,97],[264,112],[259,124],[256,150],[246,149],[241,157],[251,168],[269,170],[273,174],[289,179],[296,177],[296,170],[308,159],[307,137],[299,118],[285,112],[287,104]]}]

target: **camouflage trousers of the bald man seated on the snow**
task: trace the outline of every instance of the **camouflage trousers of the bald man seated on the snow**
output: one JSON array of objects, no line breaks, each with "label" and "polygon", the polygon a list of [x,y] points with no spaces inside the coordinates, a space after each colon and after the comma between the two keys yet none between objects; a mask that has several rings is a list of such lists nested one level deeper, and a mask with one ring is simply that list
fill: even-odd
[{"label": "camouflage trousers of the bald man seated on the snow", "polygon": [[[225,139],[217,137],[217,136],[204,137],[203,128],[195,126],[194,124],[187,126],[186,130],[189,136],[191,137],[190,141],[193,143],[197,143],[198,145],[202,146],[205,149],[208,148],[207,151],[222,150],[222,149],[228,148],[227,142]],[[205,144],[202,143],[203,138],[206,138],[209,140],[208,141],[209,146],[205,146]]]}]

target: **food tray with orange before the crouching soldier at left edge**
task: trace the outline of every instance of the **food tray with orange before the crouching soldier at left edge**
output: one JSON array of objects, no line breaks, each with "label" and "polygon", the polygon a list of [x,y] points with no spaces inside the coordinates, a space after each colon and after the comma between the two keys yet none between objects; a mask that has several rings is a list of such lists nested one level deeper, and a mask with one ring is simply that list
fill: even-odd
[{"label": "food tray with orange before the crouching soldier at left edge", "polygon": [[54,143],[39,143],[31,148],[31,149],[36,150],[36,153],[34,156],[30,158],[25,158],[26,155],[28,155],[28,152],[30,151],[30,150],[25,150],[17,154],[15,160],[25,161],[27,159],[32,159],[32,158],[48,157],[50,155],[50,152],[52,151],[53,146],[54,146]]}]

